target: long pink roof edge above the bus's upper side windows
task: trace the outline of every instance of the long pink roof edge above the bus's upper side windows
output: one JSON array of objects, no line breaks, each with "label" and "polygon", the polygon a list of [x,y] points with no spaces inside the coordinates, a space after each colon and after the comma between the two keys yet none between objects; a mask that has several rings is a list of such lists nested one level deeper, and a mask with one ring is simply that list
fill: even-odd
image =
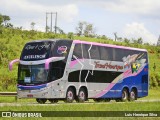
[{"label": "long pink roof edge above the bus's upper side windows", "polygon": [[120,49],[137,50],[137,51],[147,52],[146,49],[118,46],[118,45],[112,45],[112,44],[102,44],[102,43],[96,43],[96,42],[87,42],[87,41],[81,41],[81,40],[74,40],[73,43],[92,44],[92,45],[97,45],[97,46],[106,46],[106,47],[112,47],[112,48],[120,48]]}]

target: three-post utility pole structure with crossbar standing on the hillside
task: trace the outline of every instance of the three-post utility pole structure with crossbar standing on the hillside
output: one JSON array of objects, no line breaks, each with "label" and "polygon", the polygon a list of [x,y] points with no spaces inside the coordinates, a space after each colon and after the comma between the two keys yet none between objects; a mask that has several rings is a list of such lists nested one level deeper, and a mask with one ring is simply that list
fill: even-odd
[{"label": "three-post utility pole structure with crossbar standing on the hillside", "polygon": [[46,12],[46,32],[48,32],[48,26],[47,26],[47,21],[48,21],[48,14],[51,14],[51,26],[50,26],[50,32],[52,32],[52,15],[55,14],[55,34],[57,33],[57,12]]}]

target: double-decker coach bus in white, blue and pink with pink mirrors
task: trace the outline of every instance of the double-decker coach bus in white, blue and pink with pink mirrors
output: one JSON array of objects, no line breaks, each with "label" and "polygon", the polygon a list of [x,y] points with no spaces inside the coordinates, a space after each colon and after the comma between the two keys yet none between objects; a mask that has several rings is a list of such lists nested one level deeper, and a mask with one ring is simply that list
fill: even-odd
[{"label": "double-decker coach bus in white, blue and pink with pink mirrors", "polygon": [[18,65],[18,98],[38,103],[115,99],[133,101],[148,95],[145,49],[80,40],[26,43]]}]

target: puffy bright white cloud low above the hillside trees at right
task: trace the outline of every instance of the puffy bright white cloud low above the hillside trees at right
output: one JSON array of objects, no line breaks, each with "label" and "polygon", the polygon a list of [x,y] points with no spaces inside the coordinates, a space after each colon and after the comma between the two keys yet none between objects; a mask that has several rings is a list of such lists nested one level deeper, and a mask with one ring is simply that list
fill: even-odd
[{"label": "puffy bright white cloud low above the hillside trees at right", "polygon": [[156,44],[157,43],[157,37],[152,34],[149,30],[147,30],[143,23],[131,23],[126,24],[124,30],[123,30],[123,37],[127,38],[142,38],[143,42],[150,43],[150,44]]}]

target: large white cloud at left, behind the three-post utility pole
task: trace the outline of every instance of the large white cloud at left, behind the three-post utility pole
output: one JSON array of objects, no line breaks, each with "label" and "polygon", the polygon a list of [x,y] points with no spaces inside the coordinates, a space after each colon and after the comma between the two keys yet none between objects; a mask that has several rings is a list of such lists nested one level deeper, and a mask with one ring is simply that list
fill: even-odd
[{"label": "large white cloud at left, behind the three-post utility pole", "polygon": [[[44,29],[46,12],[57,12],[58,21],[66,23],[72,22],[79,12],[77,5],[72,3],[56,4],[55,2],[52,5],[43,5],[28,0],[1,0],[0,11],[2,14],[9,15],[14,25],[20,25],[27,29],[30,29],[31,22],[35,22],[37,27]],[[54,18],[53,15],[53,23]]]}]

